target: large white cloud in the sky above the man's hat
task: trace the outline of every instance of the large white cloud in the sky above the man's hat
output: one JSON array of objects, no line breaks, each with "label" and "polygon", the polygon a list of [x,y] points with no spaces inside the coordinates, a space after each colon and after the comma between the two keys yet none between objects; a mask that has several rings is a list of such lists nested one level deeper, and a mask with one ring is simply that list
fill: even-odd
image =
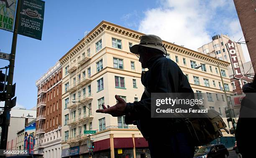
[{"label": "large white cloud in the sky above the man's hat", "polygon": [[[160,0],[159,4],[144,12],[139,32],[158,35],[163,40],[195,51],[212,40],[213,32],[228,33],[235,41],[243,37],[238,19],[228,15],[235,10],[232,0],[212,0],[207,3],[200,0]],[[242,44],[248,61],[248,50],[245,47]]]}]

